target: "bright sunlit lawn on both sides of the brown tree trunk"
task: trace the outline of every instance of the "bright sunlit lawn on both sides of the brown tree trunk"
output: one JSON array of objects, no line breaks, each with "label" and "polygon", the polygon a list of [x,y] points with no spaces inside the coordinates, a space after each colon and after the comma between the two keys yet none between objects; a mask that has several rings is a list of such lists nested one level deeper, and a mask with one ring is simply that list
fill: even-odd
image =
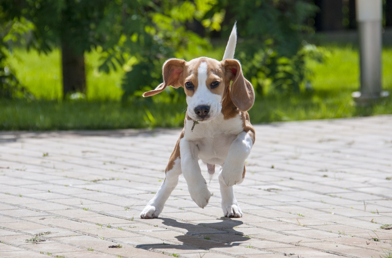
[{"label": "bright sunlit lawn on both sides of the brown tree trunk", "polygon": [[[61,53],[58,49],[45,55],[36,51],[16,49],[10,64],[16,76],[37,99],[62,99]],[[97,52],[85,54],[86,98],[91,101],[118,101],[122,95],[122,70],[105,74],[98,71],[100,55]]]}]

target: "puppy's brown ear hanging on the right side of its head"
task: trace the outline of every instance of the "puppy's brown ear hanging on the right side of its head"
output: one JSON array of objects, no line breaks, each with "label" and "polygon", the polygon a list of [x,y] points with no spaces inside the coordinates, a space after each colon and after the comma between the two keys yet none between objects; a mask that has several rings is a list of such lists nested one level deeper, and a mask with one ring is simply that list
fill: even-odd
[{"label": "puppy's brown ear hanging on the right side of its head", "polygon": [[230,97],[234,105],[241,111],[249,110],[254,103],[254,90],[252,84],[242,74],[240,62],[235,59],[222,61],[225,67],[225,76],[233,81]]}]

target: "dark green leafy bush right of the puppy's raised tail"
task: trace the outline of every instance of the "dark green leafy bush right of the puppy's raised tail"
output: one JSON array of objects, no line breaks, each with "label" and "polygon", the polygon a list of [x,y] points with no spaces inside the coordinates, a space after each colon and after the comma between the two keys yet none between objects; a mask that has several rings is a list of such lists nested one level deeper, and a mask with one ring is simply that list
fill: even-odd
[{"label": "dark green leafy bush right of the puppy's raised tail", "polygon": [[315,5],[304,0],[249,0],[228,8],[238,20],[240,36],[251,39],[238,44],[236,56],[256,92],[261,95],[263,87],[271,85],[280,93],[298,93],[309,73],[305,59],[318,52],[303,41],[303,32],[312,31],[307,20],[315,14]]}]

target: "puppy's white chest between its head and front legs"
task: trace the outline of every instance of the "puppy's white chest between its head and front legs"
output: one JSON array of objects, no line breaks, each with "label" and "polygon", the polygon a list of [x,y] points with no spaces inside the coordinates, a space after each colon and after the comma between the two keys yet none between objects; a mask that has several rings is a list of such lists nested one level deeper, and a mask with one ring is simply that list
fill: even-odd
[{"label": "puppy's white chest between its head and front legs", "polygon": [[189,121],[185,124],[185,138],[198,147],[198,158],[210,164],[223,164],[230,145],[241,132],[243,123],[240,115],[227,120],[223,119],[223,115],[218,115],[209,123],[193,126]]}]

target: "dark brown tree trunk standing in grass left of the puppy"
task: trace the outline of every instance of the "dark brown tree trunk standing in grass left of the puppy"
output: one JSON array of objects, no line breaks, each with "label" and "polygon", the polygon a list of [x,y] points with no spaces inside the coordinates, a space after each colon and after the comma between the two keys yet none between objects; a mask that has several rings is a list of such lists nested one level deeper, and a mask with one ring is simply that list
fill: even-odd
[{"label": "dark brown tree trunk standing in grass left of the puppy", "polygon": [[86,91],[86,73],[83,52],[75,51],[67,42],[61,44],[63,70],[63,98],[73,92]]}]

